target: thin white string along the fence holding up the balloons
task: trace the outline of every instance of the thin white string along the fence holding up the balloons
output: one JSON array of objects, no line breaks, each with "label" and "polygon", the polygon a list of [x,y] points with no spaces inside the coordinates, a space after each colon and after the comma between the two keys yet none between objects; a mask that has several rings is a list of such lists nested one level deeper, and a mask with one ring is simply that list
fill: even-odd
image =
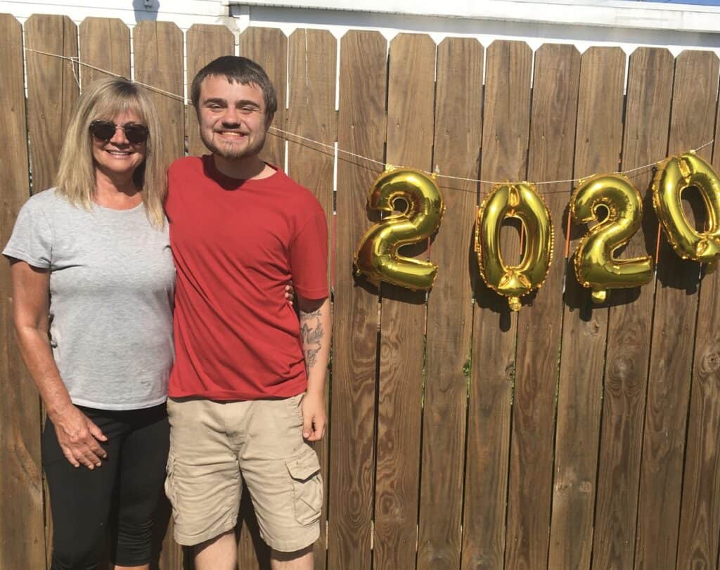
[{"label": "thin white string along the fence holding up the balloons", "polygon": [[[107,75],[109,75],[109,76],[127,79],[127,81],[132,81],[132,80],[130,80],[130,78],[124,77],[124,76],[119,75],[119,74],[117,74],[117,73],[113,73],[112,71],[109,71],[109,70],[107,70],[107,69],[99,68],[99,67],[96,67],[95,65],[91,65],[91,64],[89,64],[89,63],[85,63],[84,61],[81,61],[80,58],[78,58],[78,57],[76,57],[76,56],[60,55],[59,53],[49,53],[49,52],[44,52],[44,51],[40,51],[40,50],[33,50],[33,49],[31,49],[30,47],[25,47],[24,50],[25,50],[25,51],[32,52],[32,53],[39,53],[39,54],[41,54],[41,55],[50,55],[50,56],[53,57],[53,58],[59,58],[59,59],[63,59],[63,60],[68,60],[68,61],[71,61],[72,63],[76,63],[77,65],[83,65],[83,66],[86,67],[86,68],[94,69],[95,71],[99,71],[99,72],[101,72],[101,73],[107,73]],[[74,70],[73,70],[73,73],[74,73]],[[77,81],[77,78],[76,78],[76,81]],[[171,97],[172,99],[178,99],[179,101],[183,101],[184,104],[192,104],[192,101],[189,101],[189,99],[185,99],[184,96],[178,95],[178,94],[175,94],[175,93],[172,93],[171,91],[165,91],[164,89],[160,89],[160,88],[158,88],[158,87],[155,87],[155,86],[152,86],[152,85],[148,85],[147,83],[142,83],[141,81],[134,81],[134,83],[137,84],[137,85],[140,85],[140,86],[145,87],[145,89],[150,89],[150,91],[155,91],[155,92],[158,93],[158,94]],[[79,81],[78,81],[78,87],[79,87]],[[285,135],[285,136],[295,137],[295,138],[297,138],[297,139],[304,140],[304,141],[306,141],[307,143],[312,143],[312,144],[314,144],[314,145],[318,145],[318,146],[327,148],[328,150],[332,150],[332,151],[333,151],[333,154],[337,151],[337,152],[338,152],[338,155],[342,153],[342,154],[344,154],[344,155],[352,156],[352,157],[354,157],[354,158],[359,158],[360,160],[367,160],[367,161],[370,162],[370,163],[374,163],[374,164],[377,164],[378,166],[382,166],[383,169],[384,169],[386,166],[388,166],[387,163],[384,163],[382,160],[375,160],[374,158],[369,158],[369,157],[364,156],[364,155],[359,155],[359,154],[356,154],[356,153],[351,153],[349,150],[344,150],[343,148],[336,148],[335,145],[328,145],[328,144],[326,144],[326,143],[321,143],[319,140],[314,140],[314,139],[311,139],[311,138],[308,138],[308,137],[303,137],[302,135],[298,135],[297,133],[294,133],[294,132],[289,132],[289,131],[282,130],[282,129],[279,129],[279,128],[277,128],[277,127],[272,127],[272,126],[270,127],[270,130],[271,130],[271,131],[274,131],[274,132],[279,132],[279,133],[281,133],[282,135]],[[695,152],[697,152],[698,150],[702,150],[703,148],[706,148],[706,146],[711,145],[711,144],[713,144],[714,142],[715,142],[714,139],[709,140],[707,143],[699,146],[698,148],[696,148],[696,149],[694,149],[694,150],[695,150]],[[665,157],[663,157],[663,158],[665,158]],[[625,174],[625,175],[627,175],[627,174],[629,174],[629,173],[633,173],[633,172],[645,170],[645,169],[647,169],[647,168],[650,168],[651,166],[655,166],[656,164],[657,164],[657,160],[654,161],[654,162],[652,162],[652,163],[645,164],[645,165],[643,165],[643,166],[637,166],[636,168],[631,168],[631,169],[626,170],[626,171],[616,172],[615,174]],[[423,172],[423,173],[426,173],[426,174],[428,174],[428,176],[431,176],[431,175],[433,174],[433,173],[431,173],[431,172],[424,171],[424,170],[421,169],[421,168],[417,168],[416,170],[419,170],[419,171],[421,171],[421,172]],[[458,181],[464,181],[464,182],[473,182],[473,183],[475,183],[475,184],[478,184],[478,183],[480,183],[480,184],[490,184],[490,185],[492,185],[492,186],[495,186],[496,184],[505,184],[505,183],[507,182],[507,181],[482,180],[482,178],[465,178],[464,176],[449,176],[448,174],[438,174],[438,173],[434,173],[434,174],[435,174],[435,176],[436,176],[437,178],[446,178],[446,179],[448,179],[448,180],[458,180]],[[570,183],[575,183],[575,182],[577,182],[577,181],[580,181],[580,180],[582,180],[583,178],[588,178],[588,176],[580,176],[579,178],[567,178],[566,180],[549,180],[549,181],[542,181],[542,182],[533,182],[532,184],[534,184],[535,186],[544,186],[544,185],[546,185],[546,184],[570,184]],[[460,189],[460,188],[453,188],[453,189],[446,188],[446,189],[448,189],[448,190],[457,190],[457,191],[472,191],[472,192],[474,192],[474,190],[464,190],[464,189]],[[557,194],[558,192],[565,192],[565,190],[562,190],[562,191],[541,192],[541,194]]]}]

